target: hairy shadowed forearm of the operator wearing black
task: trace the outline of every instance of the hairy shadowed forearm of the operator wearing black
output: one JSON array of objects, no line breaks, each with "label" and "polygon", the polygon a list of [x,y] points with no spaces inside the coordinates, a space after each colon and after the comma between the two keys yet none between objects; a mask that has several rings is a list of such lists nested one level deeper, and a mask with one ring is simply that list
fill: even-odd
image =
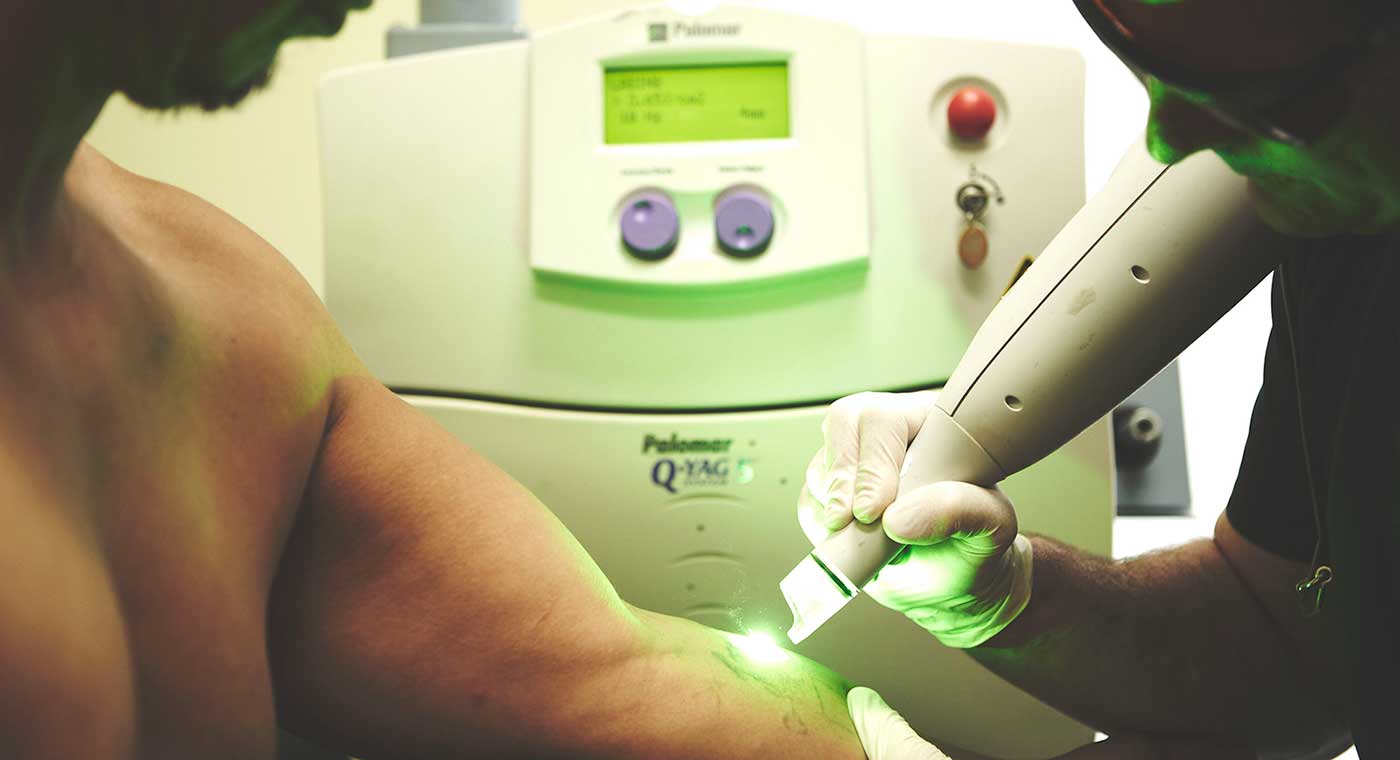
[{"label": "hairy shadowed forearm of the operator wearing black", "polygon": [[987,668],[1109,733],[1250,740],[1319,729],[1324,711],[1288,644],[1215,543],[1121,563],[1033,544],[1030,605],[970,651]]}]

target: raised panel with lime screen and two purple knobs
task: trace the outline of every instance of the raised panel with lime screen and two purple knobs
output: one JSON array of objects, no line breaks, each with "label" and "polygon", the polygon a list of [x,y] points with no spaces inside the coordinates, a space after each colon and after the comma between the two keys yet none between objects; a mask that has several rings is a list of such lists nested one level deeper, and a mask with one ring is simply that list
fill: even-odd
[{"label": "raised panel with lime screen and two purple knobs", "polygon": [[861,62],[851,27],[746,7],[538,35],[531,266],[661,287],[864,266]]}]

